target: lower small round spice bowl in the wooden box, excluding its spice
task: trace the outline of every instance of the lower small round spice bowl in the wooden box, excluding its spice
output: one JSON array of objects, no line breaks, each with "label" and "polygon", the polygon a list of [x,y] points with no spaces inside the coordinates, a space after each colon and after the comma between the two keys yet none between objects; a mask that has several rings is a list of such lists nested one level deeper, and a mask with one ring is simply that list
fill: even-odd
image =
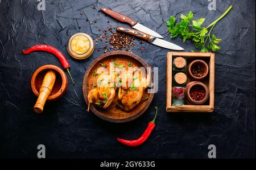
[{"label": "lower small round spice bowl in the wooden box, excluding its spice", "polygon": [[[201,86],[204,88],[205,90],[205,97],[204,99],[201,99],[200,101],[196,101],[194,99],[191,98],[190,96],[190,90],[194,87],[194,86]],[[207,100],[209,99],[209,89],[208,87],[203,84],[203,82],[200,81],[191,81],[187,84],[187,86],[185,87],[186,91],[187,91],[187,99],[190,103],[194,104],[194,105],[203,105],[205,102],[207,102]]]}]

